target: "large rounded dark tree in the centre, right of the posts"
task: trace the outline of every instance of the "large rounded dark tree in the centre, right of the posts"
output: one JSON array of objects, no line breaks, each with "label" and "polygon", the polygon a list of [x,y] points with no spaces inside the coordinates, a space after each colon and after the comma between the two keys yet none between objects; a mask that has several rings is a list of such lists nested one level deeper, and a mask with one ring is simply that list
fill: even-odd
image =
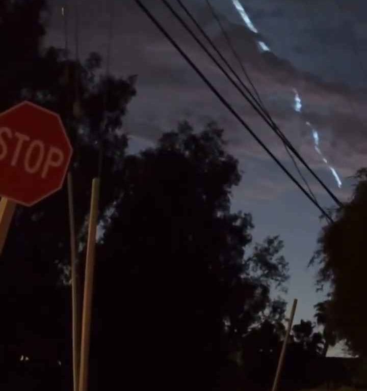
[{"label": "large rounded dark tree in the centre, right of the posts", "polygon": [[120,361],[103,358],[112,346],[134,388],[213,389],[228,353],[272,307],[271,285],[287,280],[278,237],[245,253],[252,219],[230,212],[240,173],[222,134],[213,123],[195,133],[183,122],[156,148],[124,160],[97,254],[96,389],[116,382]]}]

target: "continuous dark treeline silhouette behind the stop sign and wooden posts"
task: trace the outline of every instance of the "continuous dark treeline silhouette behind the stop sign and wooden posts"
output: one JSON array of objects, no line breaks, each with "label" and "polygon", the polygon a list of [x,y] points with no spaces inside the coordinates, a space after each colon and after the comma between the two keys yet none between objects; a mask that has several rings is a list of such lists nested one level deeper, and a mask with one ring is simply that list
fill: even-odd
[{"label": "continuous dark treeline silhouette behind the stop sign and wooden posts", "polygon": [[[0,110],[27,99],[63,119],[74,147],[81,276],[103,150],[90,389],[269,389],[285,334],[288,265],[278,236],[252,243],[251,214],[230,211],[241,174],[223,130],[181,122],[155,148],[129,155],[117,130],[136,76],[107,78],[97,53],[76,63],[44,47],[47,17],[42,0],[0,0]],[[17,208],[0,258],[3,389],[72,389],[69,265],[64,187]],[[325,303],[316,319],[327,324]],[[345,364],[325,364],[338,339],[323,329],[294,325],[282,389],[352,381]]]}]

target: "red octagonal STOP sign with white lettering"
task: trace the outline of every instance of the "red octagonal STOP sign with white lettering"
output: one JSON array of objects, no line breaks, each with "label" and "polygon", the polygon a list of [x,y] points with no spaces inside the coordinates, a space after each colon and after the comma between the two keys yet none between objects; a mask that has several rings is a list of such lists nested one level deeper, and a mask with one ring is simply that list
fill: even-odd
[{"label": "red octagonal STOP sign with white lettering", "polygon": [[0,195],[32,206],[59,190],[72,148],[60,117],[31,102],[0,114]]}]

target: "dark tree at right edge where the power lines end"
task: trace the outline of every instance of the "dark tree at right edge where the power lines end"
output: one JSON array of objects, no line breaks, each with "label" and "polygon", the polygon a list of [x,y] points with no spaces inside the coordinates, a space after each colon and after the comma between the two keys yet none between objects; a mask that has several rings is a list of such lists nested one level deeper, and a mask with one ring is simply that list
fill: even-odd
[{"label": "dark tree at right edge where the power lines end", "polygon": [[363,260],[367,218],[367,170],[355,175],[352,199],[333,211],[334,222],[320,234],[312,262],[320,265],[318,284],[330,285],[327,325],[345,340],[350,353],[367,355],[364,329],[367,314],[364,302]]}]

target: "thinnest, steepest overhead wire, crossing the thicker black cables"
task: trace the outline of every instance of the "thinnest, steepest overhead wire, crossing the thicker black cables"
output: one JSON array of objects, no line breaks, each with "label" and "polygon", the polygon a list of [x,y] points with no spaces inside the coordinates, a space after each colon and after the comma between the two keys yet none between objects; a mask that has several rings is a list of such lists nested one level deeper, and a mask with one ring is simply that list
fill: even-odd
[{"label": "thinnest, steepest overhead wire, crossing the thicker black cables", "polygon": [[[181,6],[183,6],[181,0],[177,0],[177,2],[178,2]],[[232,41],[231,41],[229,35],[227,34],[227,32],[226,32],[226,30],[225,30],[225,28],[224,28],[224,26],[223,26],[223,24],[222,24],[222,22],[221,22],[221,20],[220,20],[220,18],[219,18],[219,16],[218,16],[218,14],[217,14],[217,12],[215,11],[215,9],[214,9],[213,5],[211,4],[210,0],[205,0],[205,2],[206,2],[206,4],[207,4],[209,10],[211,11],[211,13],[212,13],[214,19],[216,20],[217,24],[219,25],[219,28],[220,28],[220,30],[221,30],[221,32],[222,32],[222,35],[224,36],[224,38],[225,38],[225,40],[226,40],[226,42],[227,42],[227,45],[228,45],[229,49],[231,50],[231,52],[232,52],[232,54],[233,54],[233,57],[234,57],[234,58],[237,60],[237,62],[239,63],[240,68],[242,69],[242,71],[243,71],[243,73],[244,73],[244,75],[245,75],[247,81],[249,82],[250,86],[252,87],[252,89],[253,89],[253,91],[254,91],[256,97],[257,97],[257,100],[258,100],[258,102],[259,102],[261,108],[262,108],[263,111],[264,111],[264,114],[265,114],[265,115],[268,117],[268,119],[272,122],[273,126],[275,126],[275,127],[277,128],[276,130],[277,130],[277,132],[278,132],[278,136],[281,138],[281,141],[282,141],[282,143],[283,143],[283,145],[284,145],[285,151],[287,152],[288,156],[289,156],[290,159],[292,160],[293,165],[295,166],[295,169],[296,169],[297,172],[298,172],[298,175],[299,175],[300,178],[302,179],[303,183],[304,183],[305,186],[307,187],[308,192],[311,194],[311,196],[313,197],[313,199],[314,199],[314,200],[317,200],[316,195],[313,193],[313,191],[312,191],[310,185],[308,184],[308,181],[306,180],[306,178],[305,178],[304,175],[302,174],[302,172],[301,172],[301,170],[300,170],[300,168],[299,168],[299,166],[298,166],[298,164],[297,164],[297,162],[296,162],[294,156],[292,155],[292,153],[291,153],[291,151],[290,151],[289,146],[287,145],[287,142],[285,141],[285,138],[286,138],[285,135],[284,135],[284,134],[281,132],[281,130],[277,127],[277,125],[276,125],[275,122],[273,121],[271,115],[269,114],[269,111],[267,110],[267,108],[266,108],[264,102],[261,100],[260,94],[258,93],[258,91],[257,91],[257,89],[256,89],[256,87],[255,87],[255,85],[254,85],[254,83],[253,83],[253,81],[251,80],[251,77],[250,77],[249,73],[247,72],[246,67],[245,67],[243,61],[241,60],[241,57],[240,57],[239,53],[237,52],[237,50],[235,49],[234,45],[232,44]],[[185,7],[185,6],[183,6],[183,7]],[[185,7],[185,8],[186,8],[186,7]],[[192,17],[192,18],[193,18],[193,17]],[[195,22],[196,22],[195,24],[198,24],[196,20],[195,20]],[[205,34],[205,35],[206,35],[206,34]],[[213,42],[213,41],[212,41],[212,42]],[[213,42],[213,44],[214,44],[214,42]],[[233,72],[232,72],[232,73],[233,73]],[[289,141],[288,141],[288,142],[289,142]],[[289,142],[289,144],[290,144],[290,142]]]}]

